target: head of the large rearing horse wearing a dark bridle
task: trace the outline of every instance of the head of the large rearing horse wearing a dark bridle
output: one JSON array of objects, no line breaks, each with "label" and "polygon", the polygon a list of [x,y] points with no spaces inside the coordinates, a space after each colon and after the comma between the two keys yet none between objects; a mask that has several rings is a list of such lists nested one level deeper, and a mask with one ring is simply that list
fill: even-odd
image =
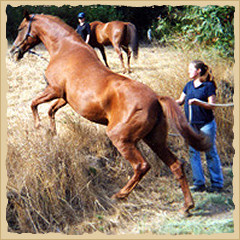
[{"label": "head of the large rearing horse wearing a dark bridle", "polygon": [[17,54],[16,60],[20,60],[24,53],[39,43],[34,15],[29,15],[27,11],[24,11],[24,19],[18,27],[18,35],[10,52],[12,55]]}]

